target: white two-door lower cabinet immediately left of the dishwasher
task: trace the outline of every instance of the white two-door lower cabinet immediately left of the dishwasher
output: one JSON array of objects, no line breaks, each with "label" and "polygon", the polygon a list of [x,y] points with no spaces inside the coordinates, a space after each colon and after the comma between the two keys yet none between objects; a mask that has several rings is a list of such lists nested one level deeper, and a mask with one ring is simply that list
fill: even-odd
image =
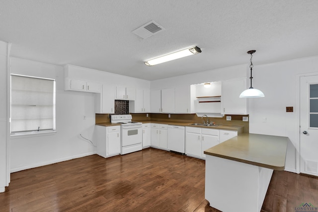
[{"label": "white two-door lower cabinet immediately left of the dishwasher", "polygon": [[151,124],[151,145],[165,150],[168,148],[168,125]]}]

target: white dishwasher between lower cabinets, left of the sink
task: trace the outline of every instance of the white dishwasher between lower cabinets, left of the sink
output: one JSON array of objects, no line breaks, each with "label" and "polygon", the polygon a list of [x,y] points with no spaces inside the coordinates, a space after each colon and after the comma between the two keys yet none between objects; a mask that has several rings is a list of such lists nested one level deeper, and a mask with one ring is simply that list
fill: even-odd
[{"label": "white dishwasher between lower cabinets, left of the sink", "polygon": [[168,149],[182,154],[185,153],[185,127],[168,126]]}]

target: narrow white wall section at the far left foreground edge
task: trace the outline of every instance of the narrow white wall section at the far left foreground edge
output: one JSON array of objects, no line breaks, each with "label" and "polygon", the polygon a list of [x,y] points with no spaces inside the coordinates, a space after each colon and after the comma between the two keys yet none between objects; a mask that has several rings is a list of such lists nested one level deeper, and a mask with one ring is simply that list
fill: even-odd
[{"label": "narrow white wall section at the far left foreground edge", "polygon": [[0,41],[0,192],[8,186],[10,176],[7,143],[7,43]]}]

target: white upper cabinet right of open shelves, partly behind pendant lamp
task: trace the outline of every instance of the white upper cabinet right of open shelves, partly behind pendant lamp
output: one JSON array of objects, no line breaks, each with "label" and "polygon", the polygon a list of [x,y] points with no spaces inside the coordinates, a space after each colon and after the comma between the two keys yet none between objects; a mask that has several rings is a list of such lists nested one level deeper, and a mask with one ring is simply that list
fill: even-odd
[{"label": "white upper cabinet right of open shelves, partly behind pendant lamp", "polygon": [[248,114],[248,99],[239,98],[239,94],[246,89],[246,79],[235,79],[222,82],[223,114]]}]

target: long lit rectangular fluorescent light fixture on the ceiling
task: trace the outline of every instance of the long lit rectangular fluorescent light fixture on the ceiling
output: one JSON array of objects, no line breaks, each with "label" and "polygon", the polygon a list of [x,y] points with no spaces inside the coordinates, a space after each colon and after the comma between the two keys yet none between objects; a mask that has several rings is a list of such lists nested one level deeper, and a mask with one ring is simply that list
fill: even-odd
[{"label": "long lit rectangular fluorescent light fixture on the ceiling", "polygon": [[161,56],[159,58],[155,58],[155,59],[146,61],[144,63],[147,66],[155,66],[155,65],[160,64],[160,63],[176,60],[176,59],[183,58],[183,57],[186,57],[189,55],[196,55],[198,53],[201,53],[201,49],[199,47],[195,46],[195,47],[184,49],[184,50],[174,52],[174,53],[171,53],[168,55],[164,55],[164,56]]}]

